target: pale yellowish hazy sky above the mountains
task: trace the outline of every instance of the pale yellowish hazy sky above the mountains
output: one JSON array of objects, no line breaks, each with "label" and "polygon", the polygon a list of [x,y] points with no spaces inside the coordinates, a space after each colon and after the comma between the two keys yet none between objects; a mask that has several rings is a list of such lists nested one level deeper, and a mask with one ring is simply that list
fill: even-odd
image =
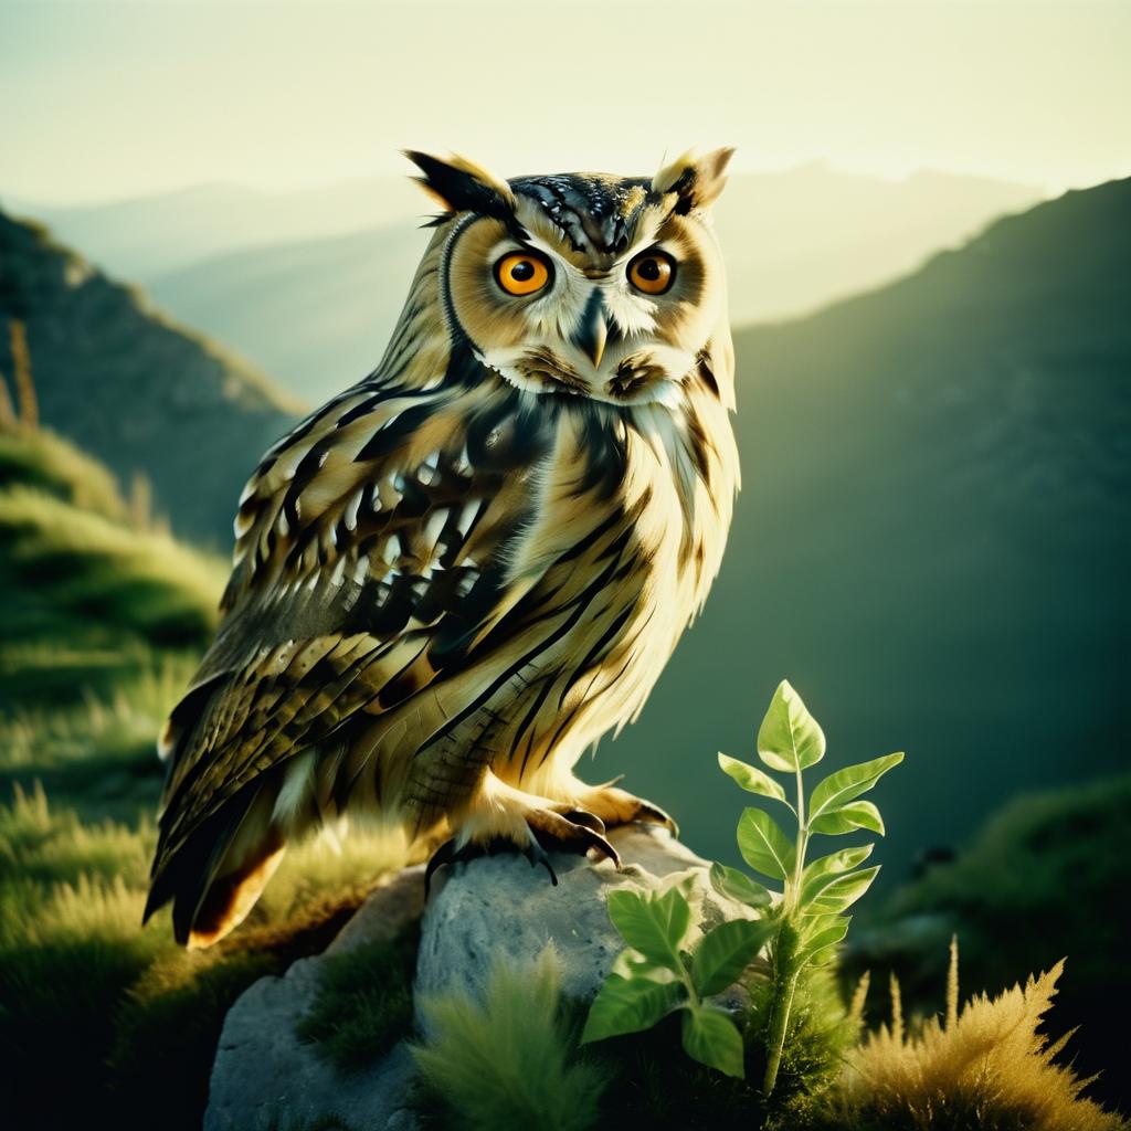
[{"label": "pale yellowish hazy sky above the mountains", "polygon": [[1131,2],[0,0],[0,191],[35,201],[403,171],[929,165],[1131,174]]}]

